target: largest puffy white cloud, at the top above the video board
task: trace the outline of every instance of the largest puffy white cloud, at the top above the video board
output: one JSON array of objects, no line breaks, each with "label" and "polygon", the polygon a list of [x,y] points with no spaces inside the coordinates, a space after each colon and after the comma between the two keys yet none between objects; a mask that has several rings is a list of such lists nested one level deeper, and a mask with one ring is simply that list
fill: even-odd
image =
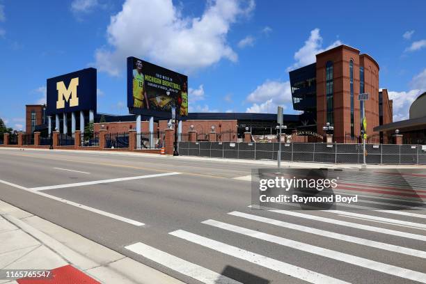
[{"label": "largest puffy white cloud, at the top above the video board", "polygon": [[238,56],[227,42],[230,26],[254,7],[254,0],[212,0],[203,15],[189,18],[172,0],[127,0],[123,10],[111,17],[109,47],[97,49],[95,65],[118,76],[127,56],[186,72],[222,58],[235,62]]}]

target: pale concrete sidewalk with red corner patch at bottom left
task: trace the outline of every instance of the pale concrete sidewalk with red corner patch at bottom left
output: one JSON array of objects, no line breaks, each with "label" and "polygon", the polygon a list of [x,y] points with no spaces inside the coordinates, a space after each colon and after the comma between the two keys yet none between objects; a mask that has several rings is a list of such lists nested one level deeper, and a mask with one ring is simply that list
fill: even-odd
[{"label": "pale concrete sidewalk with red corner patch at bottom left", "polygon": [[182,284],[171,276],[1,200],[0,269],[54,269],[54,277],[43,281],[0,278],[1,284]]}]

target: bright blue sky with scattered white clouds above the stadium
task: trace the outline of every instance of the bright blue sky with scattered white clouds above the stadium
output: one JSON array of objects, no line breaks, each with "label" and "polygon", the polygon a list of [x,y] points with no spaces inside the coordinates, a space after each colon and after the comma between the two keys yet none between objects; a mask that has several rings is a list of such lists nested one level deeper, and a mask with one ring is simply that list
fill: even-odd
[{"label": "bright blue sky with scattered white clouds above the stadium", "polygon": [[0,0],[0,117],[24,127],[46,79],[97,68],[98,109],[127,113],[125,58],[188,74],[190,111],[294,113],[288,70],[340,43],[373,56],[394,120],[426,90],[425,1]]}]

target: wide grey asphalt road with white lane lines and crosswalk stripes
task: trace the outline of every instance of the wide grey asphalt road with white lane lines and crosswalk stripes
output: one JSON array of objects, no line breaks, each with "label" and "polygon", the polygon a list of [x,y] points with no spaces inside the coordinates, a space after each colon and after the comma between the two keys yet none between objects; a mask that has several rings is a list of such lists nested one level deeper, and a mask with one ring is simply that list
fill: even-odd
[{"label": "wide grey asphalt road with white lane lines and crosswalk stripes", "polygon": [[[1,148],[0,157],[1,200],[187,283],[426,283],[424,210],[255,210],[251,183],[235,179],[254,164]],[[417,193],[421,205],[426,191]],[[363,205],[395,197],[382,196]]]}]

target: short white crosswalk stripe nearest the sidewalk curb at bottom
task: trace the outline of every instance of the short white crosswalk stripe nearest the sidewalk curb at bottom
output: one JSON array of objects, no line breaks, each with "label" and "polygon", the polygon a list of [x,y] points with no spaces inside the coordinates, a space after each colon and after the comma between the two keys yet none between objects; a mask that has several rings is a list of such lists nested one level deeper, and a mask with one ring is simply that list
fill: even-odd
[{"label": "short white crosswalk stripe nearest the sidewalk curb at bottom", "polygon": [[210,269],[201,267],[187,260],[182,260],[175,255],[171,255],[164,251],[160,251],[157,248],[148,246],[141,242],[136,244],[130,244],[125,246],[129,251],[133,251],[144,258],[155,261],[160,265],[178,271],[180,274],[194,278],[202,283],[206,284],[242,284],[241,282],[235,281],[234,279],[223,276]]}]

